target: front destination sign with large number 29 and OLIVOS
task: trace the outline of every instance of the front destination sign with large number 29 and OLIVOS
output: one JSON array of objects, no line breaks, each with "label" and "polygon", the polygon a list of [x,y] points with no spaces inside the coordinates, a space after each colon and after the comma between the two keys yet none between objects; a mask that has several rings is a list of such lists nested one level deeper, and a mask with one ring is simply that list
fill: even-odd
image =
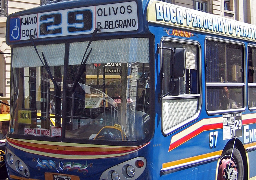
[{"label": "front destination sign with large number 29 and OLIVOS", "polygon": [[134,31],[138,29],[135,1],[100,6],[63,9],[52,12],[11,17],[9,41],[28,40],[93,33]]}]

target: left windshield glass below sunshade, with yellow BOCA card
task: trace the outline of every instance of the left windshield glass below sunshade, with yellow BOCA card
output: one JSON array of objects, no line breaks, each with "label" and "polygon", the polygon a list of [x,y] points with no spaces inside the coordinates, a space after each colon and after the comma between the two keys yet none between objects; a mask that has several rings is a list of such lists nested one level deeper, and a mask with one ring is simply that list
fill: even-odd
[{"label": "left windshield glass below sunshade, with yellow BOCA card", "polygon": [[49,68],[57,86],[42,66],[14,68],[11,133],[60,137],[63,66]]}]

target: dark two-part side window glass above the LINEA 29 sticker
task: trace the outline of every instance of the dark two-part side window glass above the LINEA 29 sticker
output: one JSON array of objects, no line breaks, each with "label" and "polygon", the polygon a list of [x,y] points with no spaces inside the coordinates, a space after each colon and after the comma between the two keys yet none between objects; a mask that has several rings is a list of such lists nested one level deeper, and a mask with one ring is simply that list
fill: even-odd
[{"label": "dark two-part side window glass above the LINEA 29 sticker", "polygon": [[207,111],[244,107],[243,46],[206,40]]}]

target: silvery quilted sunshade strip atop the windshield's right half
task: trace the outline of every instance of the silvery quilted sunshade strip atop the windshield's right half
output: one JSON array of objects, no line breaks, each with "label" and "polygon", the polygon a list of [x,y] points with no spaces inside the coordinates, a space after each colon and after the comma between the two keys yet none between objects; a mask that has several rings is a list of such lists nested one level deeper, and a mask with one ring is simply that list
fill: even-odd
[{"label": "silvery quilted sunshade strip atop the windshield's right half", "polygon": [[[88,43],[88,41],[70,43],[69,65],[81,63]],[[89,50],[91,48],[86,64],[149,63],[149,38],[92,41]]]}]

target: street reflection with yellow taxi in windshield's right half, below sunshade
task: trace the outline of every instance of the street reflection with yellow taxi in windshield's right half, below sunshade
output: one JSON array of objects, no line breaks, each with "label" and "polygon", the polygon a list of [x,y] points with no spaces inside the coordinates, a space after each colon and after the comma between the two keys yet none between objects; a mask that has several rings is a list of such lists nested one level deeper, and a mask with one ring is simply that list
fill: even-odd
[{"label": "street reflection with yellow taxi in windshield's right half, below sunshade", "polygon": [[149,133],[149,66],[146,63],[69,65],[66,137],[137,141]]}]

